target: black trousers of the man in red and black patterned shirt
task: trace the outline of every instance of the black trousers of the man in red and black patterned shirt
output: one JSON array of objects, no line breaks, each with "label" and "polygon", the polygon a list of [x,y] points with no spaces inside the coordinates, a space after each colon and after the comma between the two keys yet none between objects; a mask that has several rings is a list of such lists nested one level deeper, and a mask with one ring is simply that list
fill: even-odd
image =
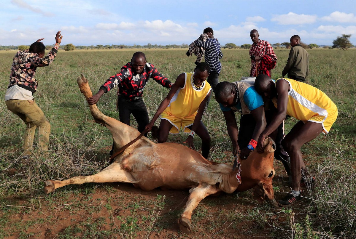
[{"label": "black trousers of the man in red and black patterned shirt", "polygon": [[[138,131],[143,132],[150,121],[148,121],[147,108],[142,98],[130,101],[119,95],[117,103],[119,105],[119,120],[122,123],[130,125],[130,115],[132,114],[138,124]],[[147,133],[145,137],[147,137]]]}]

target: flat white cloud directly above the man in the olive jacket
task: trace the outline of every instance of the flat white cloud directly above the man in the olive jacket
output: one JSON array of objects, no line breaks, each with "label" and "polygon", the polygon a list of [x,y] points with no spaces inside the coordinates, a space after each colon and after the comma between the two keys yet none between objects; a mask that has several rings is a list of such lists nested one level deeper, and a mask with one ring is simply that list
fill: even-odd
[{"label": "flat white cloud directly above the man in the olive jacket", "polygon": [[271,21],[277,22],[281,25],[302,25],[314,23],[316,21],[316,18],[316,15],[304,15],[289,12],[288,14],[274,15],[271,18]]}]

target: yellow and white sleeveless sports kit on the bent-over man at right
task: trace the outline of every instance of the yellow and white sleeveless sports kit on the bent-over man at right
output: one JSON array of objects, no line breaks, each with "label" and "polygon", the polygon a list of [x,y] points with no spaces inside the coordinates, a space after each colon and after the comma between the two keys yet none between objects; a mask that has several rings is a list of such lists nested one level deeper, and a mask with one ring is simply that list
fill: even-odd
[{"label": "yellow and white sleeveless sports kit on the bent-over man at right", "polygon": [[[337,112],[337,107],[333,101],[321,90],[314,86],[303,82],[284,79],[289,83],[290,90],[288,92],[287,114],[302,121],[308,121],[315,115],[321,117],[321,122],[324,122],[328,115]],[[274,105],[277,107],[277,99],[273,99]]]}]

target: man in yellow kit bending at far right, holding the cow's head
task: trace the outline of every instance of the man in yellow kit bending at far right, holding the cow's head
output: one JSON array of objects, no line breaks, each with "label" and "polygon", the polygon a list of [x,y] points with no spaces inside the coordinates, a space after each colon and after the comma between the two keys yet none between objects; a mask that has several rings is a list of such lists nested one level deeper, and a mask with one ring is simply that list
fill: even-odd
[{"label": "man in yellow kit bending at far right, holding the cow's head", "polygon": [[[286,115],[299,119],[298,123],[282,140],[283,148],[290,156],[292,169],[292,193],[279,200],[281,206],[288,206],[302,200],[300,179],[312,186],[314,177],[308,174],[300,148],[315,139],[321,132],[329,130],[337,118],[337,107],[325,93],[315,87],[288,78],[279,78],[274,83],[267,75],[259,75],[255,81],[257,92],[263,100],[272,99],[277,108],[271,124],[260,134],[257,151],[263,152],[262,142],[286,118]],[[303,171],[302,171],[303,170]]]}]

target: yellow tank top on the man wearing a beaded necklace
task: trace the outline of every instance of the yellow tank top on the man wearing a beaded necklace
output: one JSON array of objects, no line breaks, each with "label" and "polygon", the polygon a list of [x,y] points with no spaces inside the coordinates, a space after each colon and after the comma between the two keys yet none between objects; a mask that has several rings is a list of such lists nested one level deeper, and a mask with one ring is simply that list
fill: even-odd
[{"label": "yellow tank top on the man wearing a beaded necklace", "polygon": [[194,73],[184,73],[185,83],[183,88],[179,88],[169,102],[166,110],[162,115],[173,116],[184,119],[197,114],[200,103],[205,99],[211,90],[211,86],[207,81],[204,81],[197,89],[193,84]]}]

